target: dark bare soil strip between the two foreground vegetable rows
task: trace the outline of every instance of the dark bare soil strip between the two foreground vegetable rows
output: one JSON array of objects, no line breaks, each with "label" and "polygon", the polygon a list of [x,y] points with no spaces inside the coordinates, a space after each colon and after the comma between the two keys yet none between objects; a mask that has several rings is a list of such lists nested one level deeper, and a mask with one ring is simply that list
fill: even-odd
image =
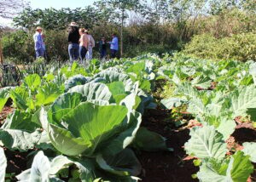
[{"label": "dark bare soil strip between the two foreground vegetable rows", "polygon": [[187,156],[183,145],[189,140],[189,129],[178,131],[168,123],[170,111],[151,110],[143,116],[143,127],[148,128],[166,138],[168,147],[174,151],[146,152],[143,151],[138,158],[143,165],[141,178],[144,182],[192,182],[191,175],[199,168],[193,161],[184,161]]}]

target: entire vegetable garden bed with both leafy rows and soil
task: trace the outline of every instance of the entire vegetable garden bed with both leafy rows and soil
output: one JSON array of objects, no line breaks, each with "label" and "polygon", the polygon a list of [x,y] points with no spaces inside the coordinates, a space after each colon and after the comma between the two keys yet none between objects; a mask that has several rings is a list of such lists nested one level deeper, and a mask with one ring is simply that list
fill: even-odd
[{"label": "entire vegetable garden bed with both leafy rows and soil", "polygon": [[0,89],[0,181],[255,180],[253,62],[145,55],[24,75]]}]

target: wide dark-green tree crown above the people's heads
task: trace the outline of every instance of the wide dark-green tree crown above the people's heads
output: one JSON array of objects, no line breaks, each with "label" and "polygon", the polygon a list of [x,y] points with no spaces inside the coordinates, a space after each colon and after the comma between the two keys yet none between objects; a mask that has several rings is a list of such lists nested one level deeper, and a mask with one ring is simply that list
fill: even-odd
[{"label": "wide dark-green tree crown above the people's heads", "polygon": [[84,28],[92,28],[100,19],[99,12],[91,6],[84,9],[24,9],[15,17],[15,26],[29,30],[42,26],[46,30],[65,30],[70,22],[75,21]]}]

